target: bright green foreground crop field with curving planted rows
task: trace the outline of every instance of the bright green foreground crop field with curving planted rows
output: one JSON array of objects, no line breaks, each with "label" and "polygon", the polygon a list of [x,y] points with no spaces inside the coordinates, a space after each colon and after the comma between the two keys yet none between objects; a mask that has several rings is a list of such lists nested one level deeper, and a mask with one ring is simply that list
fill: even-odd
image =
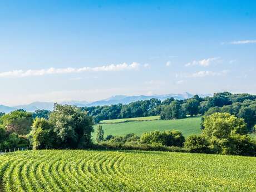
[{"label": "bright green foreground crop field with curving planted rows", "polygon": [[0,156],[0,191],[256,191],[256,158],[44,150]]}]

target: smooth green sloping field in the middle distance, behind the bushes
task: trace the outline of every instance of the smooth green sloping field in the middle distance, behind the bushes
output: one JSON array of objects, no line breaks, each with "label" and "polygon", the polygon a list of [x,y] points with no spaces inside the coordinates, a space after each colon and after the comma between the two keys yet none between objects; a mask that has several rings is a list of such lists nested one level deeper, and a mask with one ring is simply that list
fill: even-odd
[{"label": "smooth green sloping field in the middle distance, behind the bushes", "polygon": [[[104,129],[105,136],[121,136],[130,133],[141,135],[143,132],[149,132],[154,130],[164,131],[176,129],[181,131],[183,135],[186,137],[191,134],[200,134],[200,122],[201,117],[190,117],[179,120],[131,121],[115,124],[102,124],[102,127]],[[94,132],[93,138],[95,138],[95,135],[96,133]]]}]

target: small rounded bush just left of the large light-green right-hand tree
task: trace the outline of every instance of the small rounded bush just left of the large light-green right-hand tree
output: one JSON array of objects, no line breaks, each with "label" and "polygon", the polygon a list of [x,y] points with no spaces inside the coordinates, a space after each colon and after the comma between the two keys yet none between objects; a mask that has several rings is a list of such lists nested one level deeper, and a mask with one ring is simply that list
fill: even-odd
[{"label": "small rounded bush just left of the large light-green right-hand tree", "polygon": [[190,135],[185,141],[185,148],[190,152],[210,153],[210,144],[203,135]]}]

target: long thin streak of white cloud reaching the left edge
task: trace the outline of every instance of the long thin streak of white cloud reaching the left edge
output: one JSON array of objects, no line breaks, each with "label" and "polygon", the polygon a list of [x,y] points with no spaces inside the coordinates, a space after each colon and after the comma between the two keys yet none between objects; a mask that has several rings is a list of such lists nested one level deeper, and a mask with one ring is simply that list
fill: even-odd
[{"label": "long thin streak of white cloud reaching the left edge", "polygon": [[0,72],[0,77],[27,77],[27,76],[43,76],[43,75],[53,75],[53,74],[65,74],[65,73],[81,73],[86,71],[99,72],[99,71],[129,71],[129,70],[139,70],[140,64],[133,62],[130,65],[127,63],[122,63],[118,65],[105,65],[100,67],[82,67],[82,68],[48,68],[41,70],[14,70],[8,72]]}]

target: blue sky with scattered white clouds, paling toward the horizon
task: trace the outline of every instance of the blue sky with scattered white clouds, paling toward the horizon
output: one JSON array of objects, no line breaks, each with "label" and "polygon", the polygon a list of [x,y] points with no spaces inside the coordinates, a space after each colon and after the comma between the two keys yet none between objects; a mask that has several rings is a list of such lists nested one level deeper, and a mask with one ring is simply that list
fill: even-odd
[{"label": "blue sky with scattered white clouds, paling toward the horizon", "polygon": [[256,94],[256,1],[0,1],[0,104]]}]

